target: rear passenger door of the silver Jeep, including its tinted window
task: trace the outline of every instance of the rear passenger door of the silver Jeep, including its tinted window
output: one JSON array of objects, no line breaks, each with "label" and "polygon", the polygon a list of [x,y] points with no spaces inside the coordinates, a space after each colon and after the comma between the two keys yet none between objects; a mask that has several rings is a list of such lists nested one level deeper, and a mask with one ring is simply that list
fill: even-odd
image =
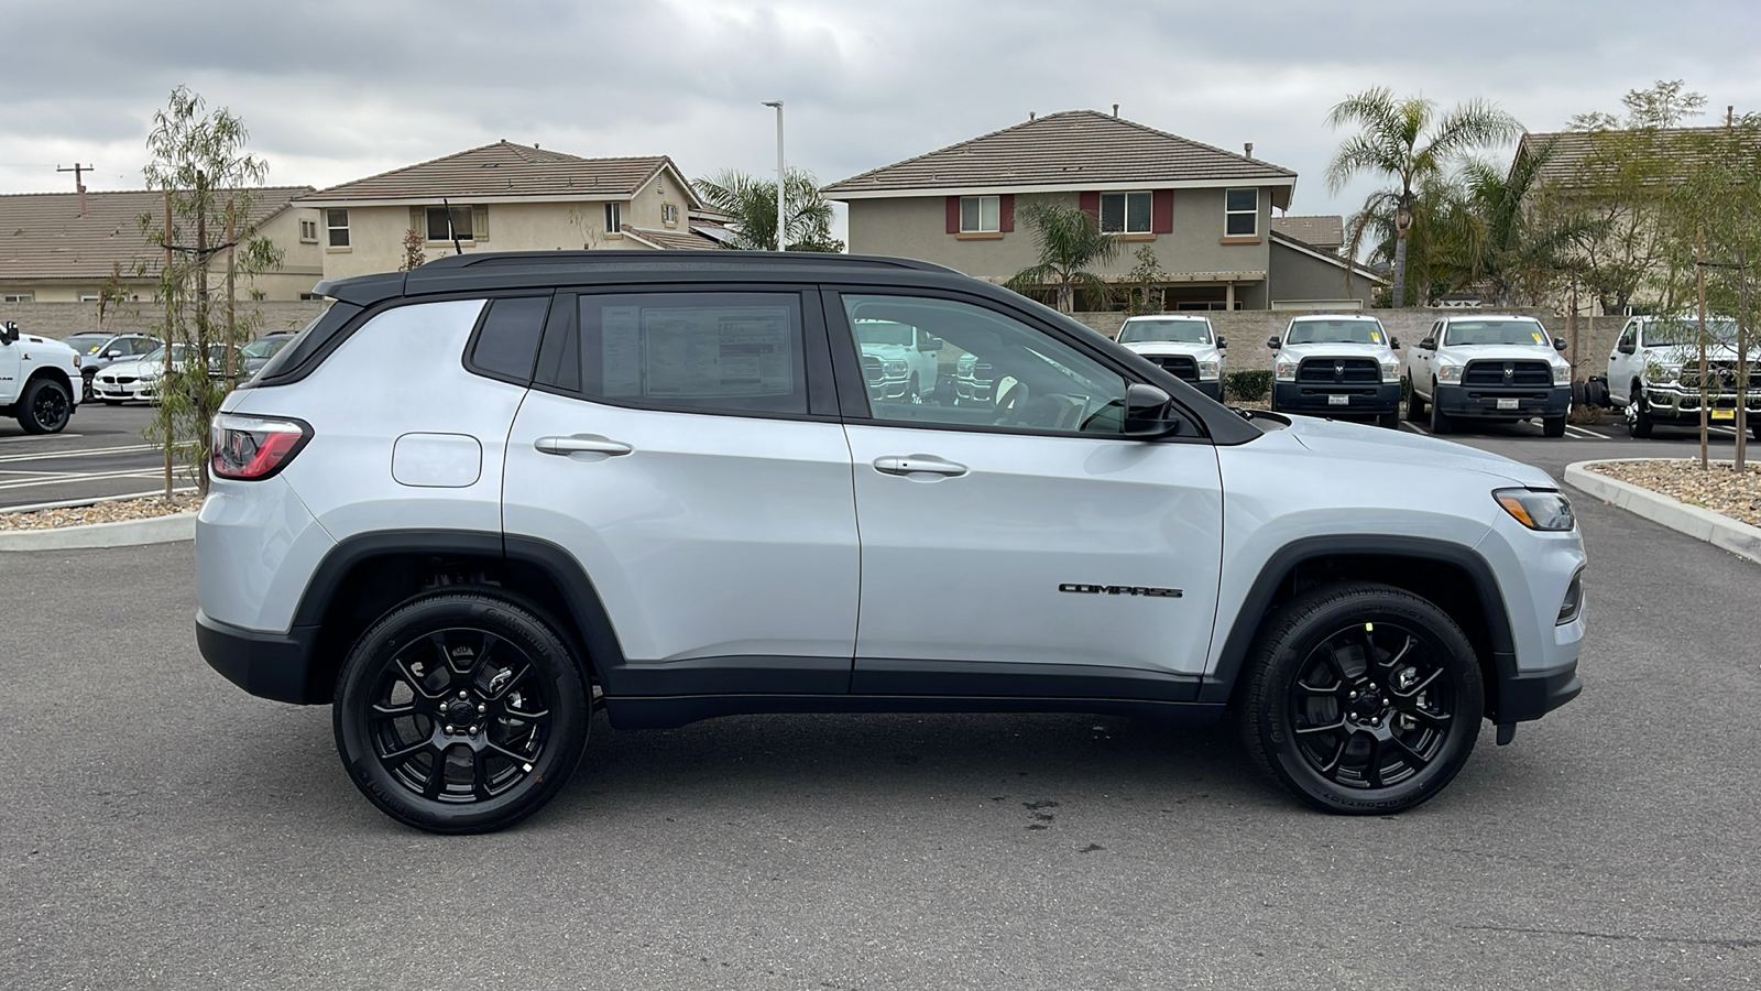
[{"label": "rear passenger door of the silver Jeep, including its tinted window", "polygon": [[667,681],[682,665],[726,691],[849,688],[851,451],[810,302],[622,289],[551,309],[507,439],[505,533],[579,561],[634,693],[701,689]]}]

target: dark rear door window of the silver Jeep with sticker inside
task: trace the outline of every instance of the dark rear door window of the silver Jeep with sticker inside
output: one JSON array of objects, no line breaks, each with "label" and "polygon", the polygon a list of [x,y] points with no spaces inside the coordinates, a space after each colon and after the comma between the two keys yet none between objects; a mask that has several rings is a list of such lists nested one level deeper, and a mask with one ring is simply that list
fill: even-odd
[{"label": "dark rear door window of the silver Jeep with sticker inside", "polygon": [[588,399],[715,413],[807,413],[801,302],[792,293],[581,296]]}]

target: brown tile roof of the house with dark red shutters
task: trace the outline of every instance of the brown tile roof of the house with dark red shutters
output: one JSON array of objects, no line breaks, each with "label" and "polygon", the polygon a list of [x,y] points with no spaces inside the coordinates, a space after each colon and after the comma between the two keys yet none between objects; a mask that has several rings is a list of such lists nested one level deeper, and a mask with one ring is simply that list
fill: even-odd
[{"label": "brown tile roof of the house with dark red shutters", "polygon": [[833,199],[953,189],[1095,189],[1155,183],[1294,185],[1296,173],[1090,109],[1048,113],[835,182]]}]

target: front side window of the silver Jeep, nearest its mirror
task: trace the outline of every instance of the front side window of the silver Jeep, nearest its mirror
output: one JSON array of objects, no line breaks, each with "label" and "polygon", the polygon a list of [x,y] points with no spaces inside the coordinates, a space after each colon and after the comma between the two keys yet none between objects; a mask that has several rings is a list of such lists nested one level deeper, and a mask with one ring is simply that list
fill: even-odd
[{"label": "front side window of the silver Jeep, nearest its mirror", "polygon": [[849,294],[844,312],[873,420],[1053,434],[1124,430],[1124,376],[1014,317],[916,296]]}]

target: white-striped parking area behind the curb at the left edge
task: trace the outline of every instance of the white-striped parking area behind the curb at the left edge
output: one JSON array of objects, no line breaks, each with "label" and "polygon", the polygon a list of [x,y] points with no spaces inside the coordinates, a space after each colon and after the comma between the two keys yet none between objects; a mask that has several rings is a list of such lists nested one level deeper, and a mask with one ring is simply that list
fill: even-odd
[{"label": "white-striped parking area behind the curb at the left edge", "polygon": [[[144,404],[81,402],[60,434],[30,436],[0,418],[0,510],[164,488],[164,453],[143,434],[153,421]],[[190,485],[185,471],[173,478]]]}]

